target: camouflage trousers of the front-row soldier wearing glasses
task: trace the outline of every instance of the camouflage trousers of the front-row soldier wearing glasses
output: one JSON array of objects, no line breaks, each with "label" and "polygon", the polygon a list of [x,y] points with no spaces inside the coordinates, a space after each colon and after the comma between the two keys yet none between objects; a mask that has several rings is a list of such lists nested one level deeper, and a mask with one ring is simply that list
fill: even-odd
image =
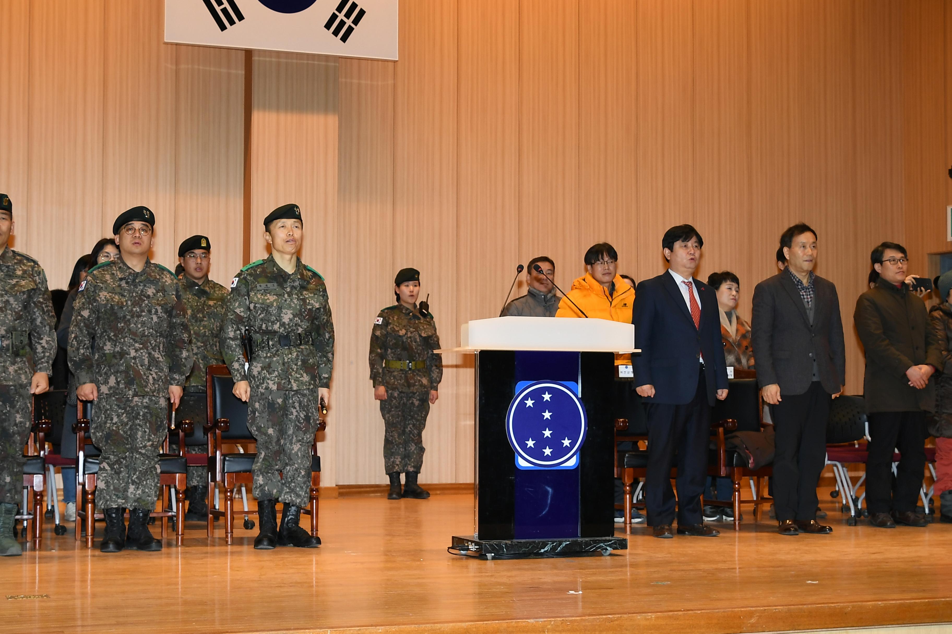
[{"label": "camouflage trousers of the front-row soldier wearing glasses", "polygon": [[89,435],[102,451],[96,477],[100,509],[155,508],[168,403],[166,396],[100,396],[92,406]]}]

